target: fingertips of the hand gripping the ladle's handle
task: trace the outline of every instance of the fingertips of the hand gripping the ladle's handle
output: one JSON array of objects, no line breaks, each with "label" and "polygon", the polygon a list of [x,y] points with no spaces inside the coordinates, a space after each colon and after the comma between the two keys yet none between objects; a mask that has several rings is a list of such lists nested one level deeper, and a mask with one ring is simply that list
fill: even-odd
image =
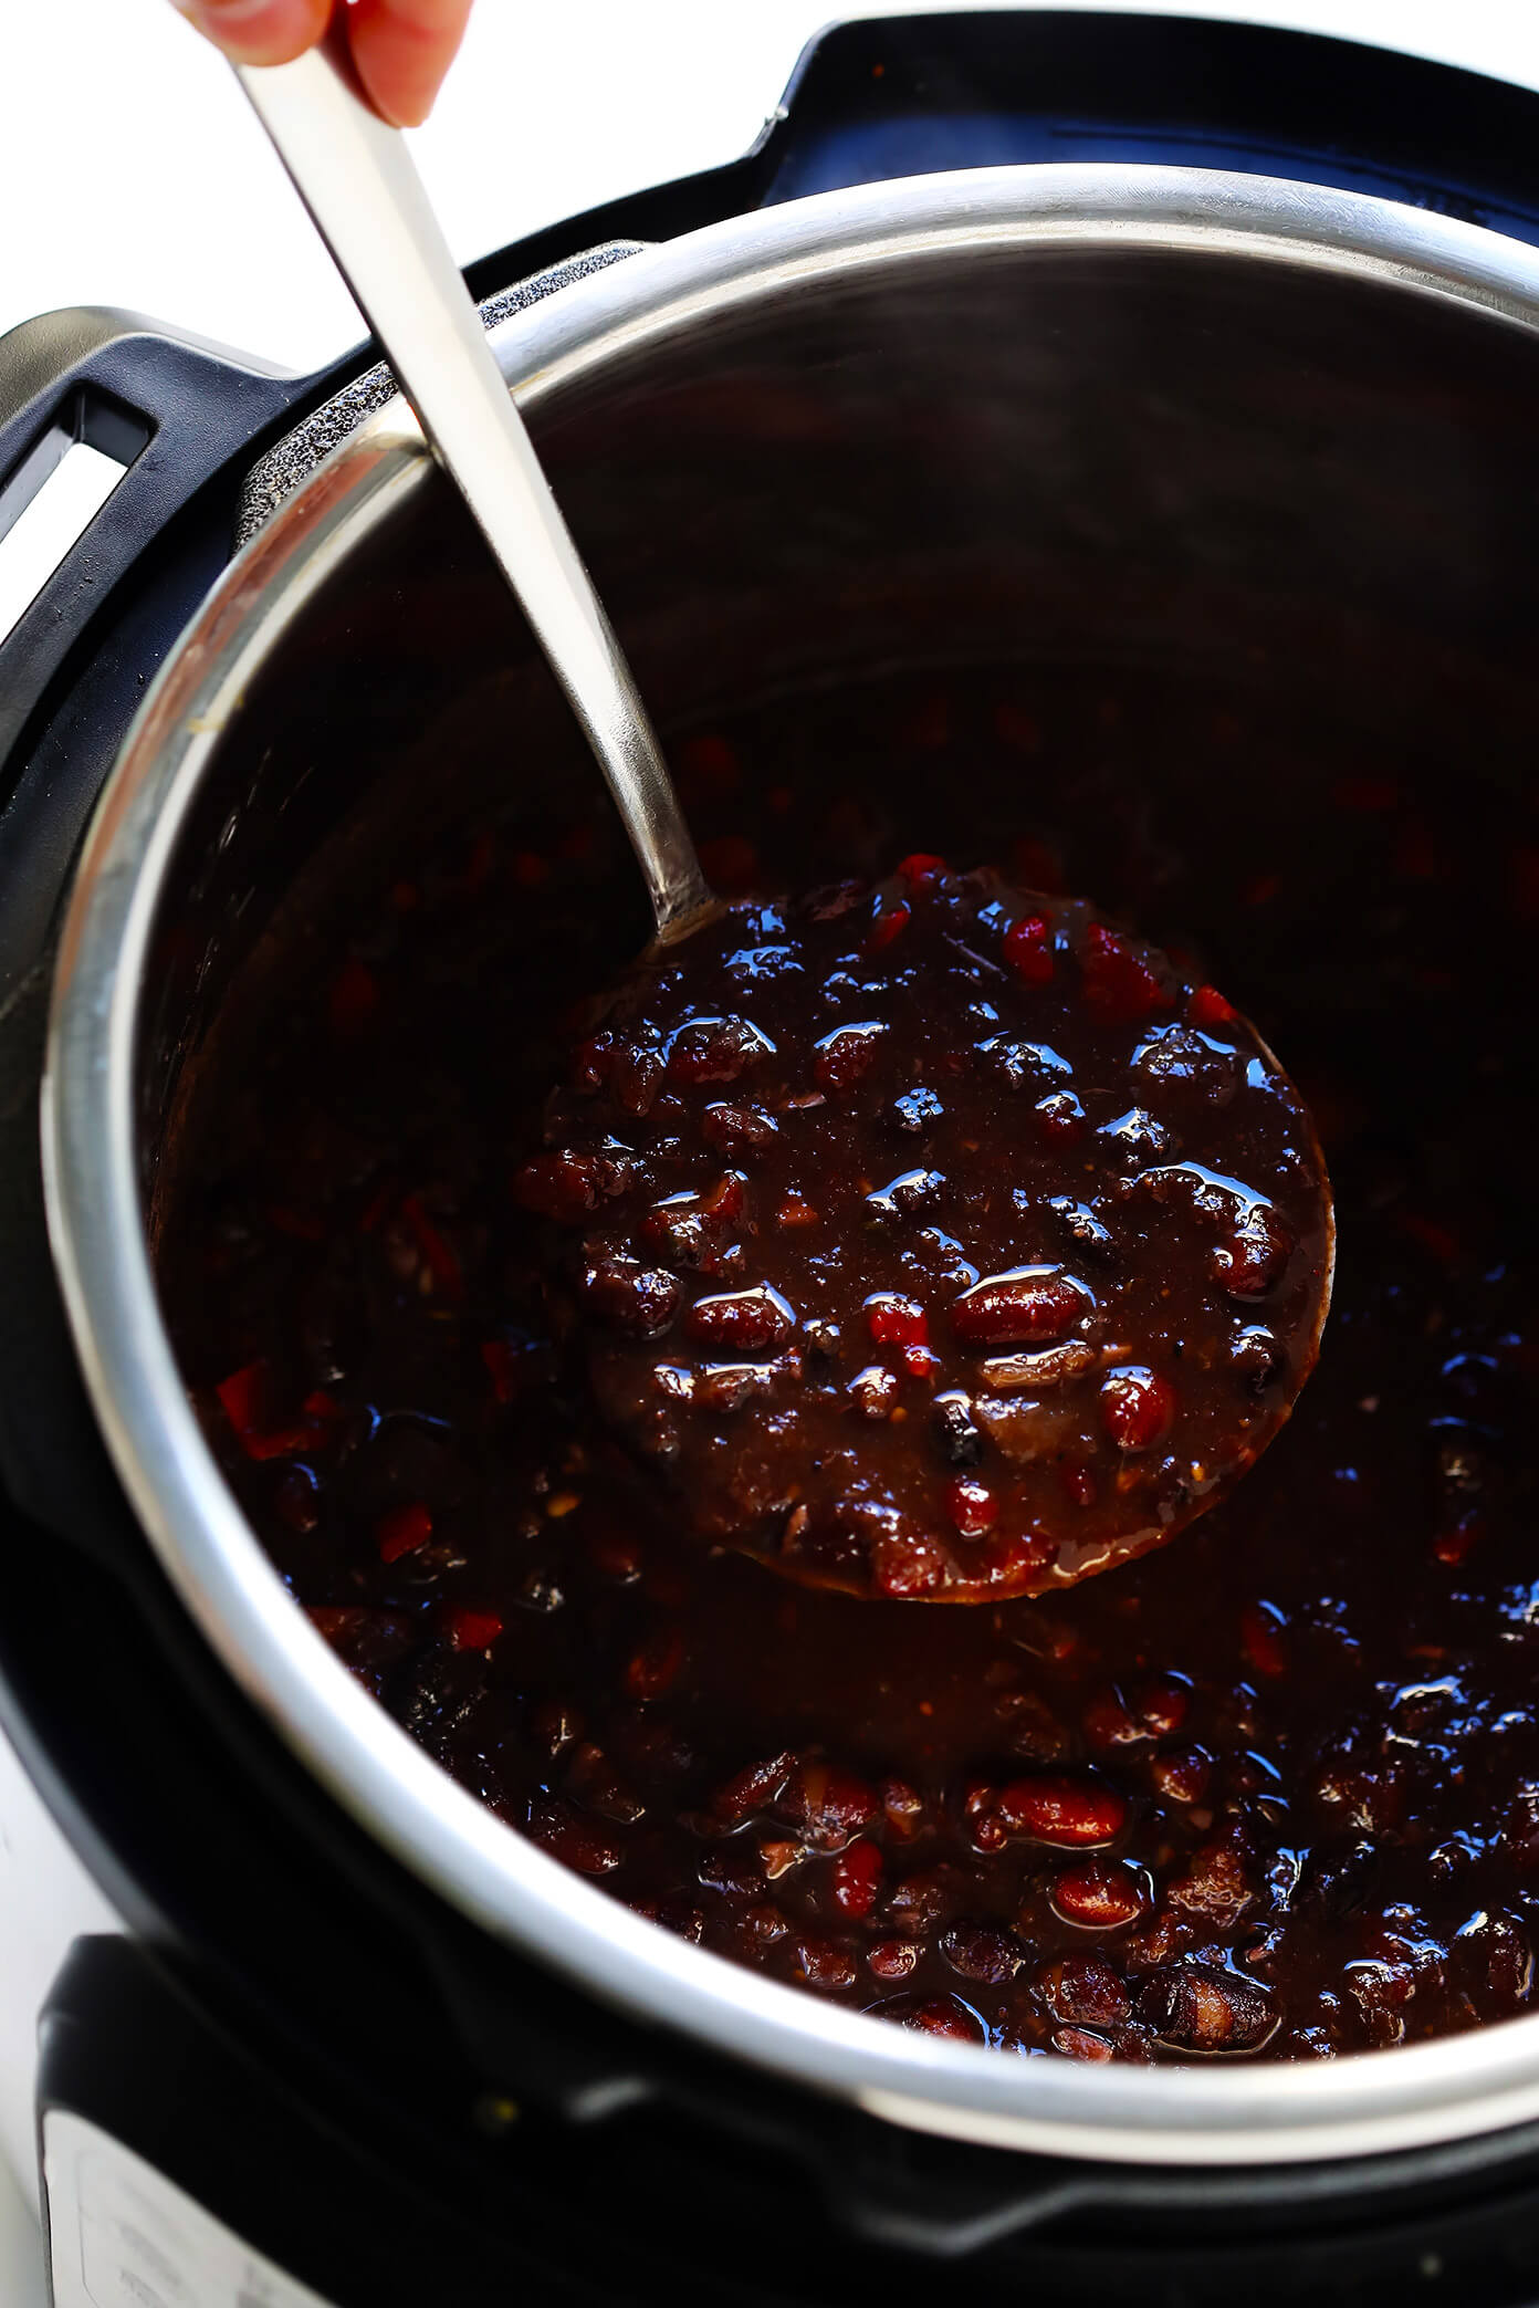
[{"label": "fingertips of the hand gripping the ladle's handle", "polygon": [[288,65],[339,14],[369,104],[399,129],[427,120],[471,14],[471,0],[175,0],[175,7],[238,65]]}]

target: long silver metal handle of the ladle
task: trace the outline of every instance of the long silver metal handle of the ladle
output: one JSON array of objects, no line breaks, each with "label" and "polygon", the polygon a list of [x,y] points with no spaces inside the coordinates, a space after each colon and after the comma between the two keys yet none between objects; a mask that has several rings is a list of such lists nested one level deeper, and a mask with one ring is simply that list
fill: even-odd
[{"label": "long silver metal handle of the ladle", "polygon": [[683,935],[711,891],[667,762],[406,138],[365,104],[335,39],[235,72],[586,732],[658,937]]}]

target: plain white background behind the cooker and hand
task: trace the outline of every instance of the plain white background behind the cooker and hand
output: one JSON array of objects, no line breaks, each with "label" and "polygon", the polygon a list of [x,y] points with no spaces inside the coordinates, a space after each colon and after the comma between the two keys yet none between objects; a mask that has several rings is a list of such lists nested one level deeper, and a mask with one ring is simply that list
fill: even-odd
[{"label": "plain white background behind the cooker and hand", "polygon": [[[1539,0],[1165,5],[1539,88]],[[478,0],[413,138],[457,256],[734,159],[824,9],[877,16],[898,0]],[[0,332],[58,305],[115,305],[293,369],[362,335],[240,90],[166,0],[0,0]],[[0,1980],[0,1999],[14,1985]],[[18,2059],[25,2015],[12,2017],[0,2045]],[[35,2230],[2,2165],[0,2303],[42,2303]]]}]

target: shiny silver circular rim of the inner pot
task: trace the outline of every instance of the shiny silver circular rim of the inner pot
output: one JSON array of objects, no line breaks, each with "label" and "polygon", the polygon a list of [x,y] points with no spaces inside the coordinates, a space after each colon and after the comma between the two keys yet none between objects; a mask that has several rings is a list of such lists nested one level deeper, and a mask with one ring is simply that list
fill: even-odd
[{"label": "shiny silver circular rim of the inner pot", "polygon": [[[1080,245],[1354,275],[1539,332],[1539,252],[1424,210],[1274,178],[1011,166],[817,194],[651,247],[491,332],[519,404],[796,282]],[[404,402],[247,545],[145,697],[62,926],[42,1082],[48,1235],[125,1491],[235,1683],[330,1793],[494,1936],[595,1996],[888,2121],[1119,2165],[1315,2163],[1539,2119],[1539,2010],[1329,2066],[1011,2059],[819,2006],[630,1913],[501,1823],[401,1731],[284,1588],[203,1440],[162,1325],[136,1163],[136,1025],[157,898],[256,667],[434,471]]]}]

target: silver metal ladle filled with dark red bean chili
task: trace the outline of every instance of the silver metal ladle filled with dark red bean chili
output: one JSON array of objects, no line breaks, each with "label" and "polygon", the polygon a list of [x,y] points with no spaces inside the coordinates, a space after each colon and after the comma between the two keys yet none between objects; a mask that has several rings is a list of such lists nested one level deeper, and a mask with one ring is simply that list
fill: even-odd
[{"label": "silver metal ladle filled with dark red bean chili", "polygon": [[[646,877],[653,953],[577,1057],[577,1110],[556,1094],[547,1152],[515,1182],[526,1209],[584,1228],[581,1256],[558,1253],[554,1272],[577,1292],[568,1329],[591,1339],[607,1424],[671,1468],[701,1537],[856,1595],[997,1602],[1163,1544],[1244,1475],[1315,1359],[1331,1212],[1292,1085],[1214,988],[1082,905],[953,882],[939,859],[909,859],[907,896],[868,891],[858,919],[854,896],[725,914],[401,134],[337,44],[240,78]],[[688,958],[658,953],[706,923]],[[602,1161],[600,1106],[614,1106]],[[895,1110],[918,1140],[877,1191]],[[1177,1163],[1188,1133],[1204,1161]],[[1228,1159],[1211,1168],[1221,1152],[1260,1161],[1290,1219]],[[1008,1209],[990,1200],[1001,1159]],[[921,1223],[951,1207],[953,1172],[976,1267]],[[681,1191],[658,1200],[660,1177]],[[1052,1214],[1080,1237],[1057,1242]],[[944,1274],[921,1239],[948,1246]],[[1066,1265],[1087,1244],[1110,1258],[1094,1283]],[[1262,1297],[1285,1336],[1246,1320]],[[994,1489],[969,1473],[985,1436]]]}]

